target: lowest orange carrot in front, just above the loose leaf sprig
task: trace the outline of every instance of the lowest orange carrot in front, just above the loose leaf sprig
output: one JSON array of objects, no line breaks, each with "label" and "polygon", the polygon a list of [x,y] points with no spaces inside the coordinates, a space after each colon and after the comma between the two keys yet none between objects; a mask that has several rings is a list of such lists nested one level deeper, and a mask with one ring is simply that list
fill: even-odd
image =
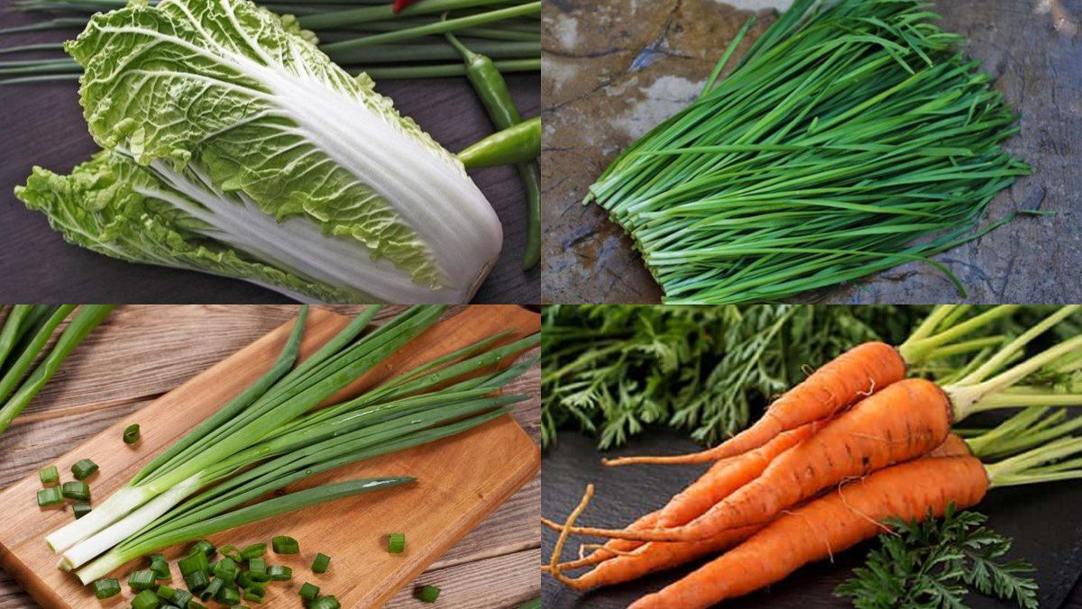
[{"label": "lowest orange carrot in front, just above the loose leaf sprig", "polygon": [[978,503],[988,475],[973,456],[921,459],[882,469],[783,514],[686,578],[632,609],[710,607],[778,582],[800,567],[882,532],[884,519],[942,515],[948,504]]}]

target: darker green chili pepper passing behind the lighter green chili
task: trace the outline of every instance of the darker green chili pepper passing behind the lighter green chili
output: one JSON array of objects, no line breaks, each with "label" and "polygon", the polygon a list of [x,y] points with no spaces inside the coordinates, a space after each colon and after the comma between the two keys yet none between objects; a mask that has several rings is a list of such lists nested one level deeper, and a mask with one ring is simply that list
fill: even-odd
[{"label": "darker green chili pepper passing behind the lighter green chili", "polygon": [[[488,110],[492,124],[503,130],[522,122],[523,117],[511,98],[507,83],[492,59],[466,49],[453,34],[445,36],[462,55],[466,65],[466,78]],[[537,161],[517,163],[515,169],[526,188],[526,251],[523,254],[523,270],[529,270],[541,260],[541,170]]]}]

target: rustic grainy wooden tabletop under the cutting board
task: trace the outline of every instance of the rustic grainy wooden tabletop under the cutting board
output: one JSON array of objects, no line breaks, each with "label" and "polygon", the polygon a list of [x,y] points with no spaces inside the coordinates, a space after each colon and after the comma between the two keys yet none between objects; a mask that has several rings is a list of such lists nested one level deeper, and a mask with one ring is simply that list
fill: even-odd
[{"label": "rustic grainy wooden tabletop under the cutting board", "polygon": [[[361,307],[329,308],[356,315]],[[396,308],[384,308],[377,320]],[[295,315],[295,306],[282,305],[118,307],[0,436],[0,488],[49,465]],[[535,365],[507,388],[530,396],[515,405],[513,415],[533,441],[540,441],[541,433],[540,379],[541,367]],[[440,603],[466,598],[470,607],[505,609],[537,598],[540,501],[536,476],[419,581],[440,587]],[[413,597],[412,587],[406,586],[385,608],[426,607]],[[34,607],[29,595],[0,570],[0,609]]]}]

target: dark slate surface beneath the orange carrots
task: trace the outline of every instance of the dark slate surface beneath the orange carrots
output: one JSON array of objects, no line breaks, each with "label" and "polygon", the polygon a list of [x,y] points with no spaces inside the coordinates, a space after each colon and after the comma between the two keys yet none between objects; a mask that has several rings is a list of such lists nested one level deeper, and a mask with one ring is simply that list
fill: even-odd
[{"label": "dark slate surface beneath the orange carrots", "polygon": [[[557,445],[545,452],[541,473],[541,513],[563,521],[578,504],[588,482],[596,493],[579,524],[584,526],[625,525],[665,501],[705,471],[705,466],[624,466],[605,467],[595,449],[595,440],[565,432]],[[652,431],[632,441],[617,454],[677,454],[701,447],[668,432]],[[1082,572],[1082,484],[1060,482],[1029,488],[992,490],[979,511],[989,516],[989,525],[1015,541],[1014,556],[1030,560],[1038,568],[1041,607],[1082,607],[1082,587],[1077,586]],[[556,533],[542,529],[541,556],[552,556]],[[564,559],[577,556],[578,542],[568,542]],[[869,544],[835,556],[834,564],[805,567],[790,578],[738,600],[724,604],[733,609],[789,609],[803,607],[846,607],[831,595],[834,586],[862,562]],[[589,594],[570,591],[543,577],[542,600],[545,607],[616,609],[626,607],[644,594],[664,587],[683,573],[701,565],[658,573],[638,582],[603,588]],[[1074,587],[1072,592],[1072,587]],[[1068,600],[1070,598],[1070,600]],[[1011,607],[997,600],[973,597],[976,609]]]}]

